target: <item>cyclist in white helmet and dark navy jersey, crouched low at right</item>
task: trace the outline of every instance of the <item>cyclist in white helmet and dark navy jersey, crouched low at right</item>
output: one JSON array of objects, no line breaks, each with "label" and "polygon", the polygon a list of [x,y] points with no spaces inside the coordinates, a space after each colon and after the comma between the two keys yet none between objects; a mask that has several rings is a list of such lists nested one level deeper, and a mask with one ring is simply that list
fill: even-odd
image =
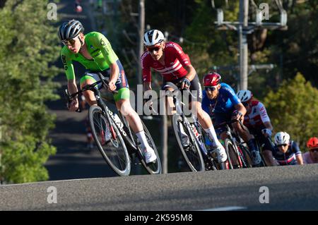
[{"label": "cyclist in white helmet and dark navy jersey, crouched low at right", "polygon": [[[302,152],[296,142],[290,140],[290,135],[286,132],[278,132],[274,137],[276,147],[274,147],[271,152],[273,156],[271,157],[272,166],[277,164],[280,166],[285,165],[302,165]],[[275,160],[273,159],[275,158]]]}]

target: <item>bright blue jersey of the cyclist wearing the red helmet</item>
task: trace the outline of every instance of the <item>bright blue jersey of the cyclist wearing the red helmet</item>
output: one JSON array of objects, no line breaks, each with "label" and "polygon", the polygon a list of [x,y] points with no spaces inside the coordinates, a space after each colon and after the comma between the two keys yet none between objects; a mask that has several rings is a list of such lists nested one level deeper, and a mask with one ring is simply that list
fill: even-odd
[{"label": "bright blue jersey of the cyclist wearing the red helmet", "polygon": [[213,114],[232,114],[235,109],[234,106],[240,104],[240,102],[232,87],[226,83],[221,83],[216,99],[209,99],[206,96],[206,91],[203,91],[202,109],[210,116],[213,116]]}]

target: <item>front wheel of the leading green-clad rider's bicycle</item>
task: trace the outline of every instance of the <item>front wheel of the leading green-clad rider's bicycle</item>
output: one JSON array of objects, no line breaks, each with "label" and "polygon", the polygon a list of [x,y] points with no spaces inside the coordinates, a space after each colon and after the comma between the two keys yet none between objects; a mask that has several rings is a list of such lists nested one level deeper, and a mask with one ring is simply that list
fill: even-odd
[{"label": "front wheel of the leading green-clad rider's bicycle", "polygon": [[[119,176],[129,176],[131,171],[130,157],[117,126],[112,120],[108,121],[103,115],[102,109],[95,105],[90,107],[88,118],[93,138],[102,157]],[[106,129],[110,129],[112,134],[109,142],[105,141]]]}]

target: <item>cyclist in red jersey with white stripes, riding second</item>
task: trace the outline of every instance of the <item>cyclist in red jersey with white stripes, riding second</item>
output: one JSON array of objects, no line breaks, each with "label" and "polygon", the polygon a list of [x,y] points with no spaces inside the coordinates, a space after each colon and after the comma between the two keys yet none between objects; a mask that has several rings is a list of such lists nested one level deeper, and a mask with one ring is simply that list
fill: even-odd
[{"label": "cyclist in red jersey with white stripes, riding second", "polygon": [[[218,162],[225,162],[227,155],[223,145],[216,136],[210,116],[201,108],[202,89],[198,75],[191,65],[189,56],[182,51],[182,47],[175,42],[165,42],[165,37],[160,30],[149,30],[143,36],[146,51],[141,56],[141,68],[143,75],[143,89],[151,90],[151,68],[163,76],[163,90],[175,90],[187,88],[194,91],[195,100],[189,98],[190,107],[196,110],[199,123],[213,140],[213,147],[218,154]],[[167,97],[167,109],[173,109],[172,97]],[[168,111],[175,114],[175,111]],[[182,143],[187,145],[187,136],[182,137]]]}]

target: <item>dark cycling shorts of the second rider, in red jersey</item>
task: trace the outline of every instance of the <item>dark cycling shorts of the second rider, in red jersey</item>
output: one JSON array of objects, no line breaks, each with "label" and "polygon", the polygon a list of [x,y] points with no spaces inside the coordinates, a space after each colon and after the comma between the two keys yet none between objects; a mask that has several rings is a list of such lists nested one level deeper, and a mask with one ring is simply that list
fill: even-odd
[{"label": "dark cycling shorts of the second rider, in red jersey", "polygon": [[[171,81],[163,81],[163,85],[161,86],[161,90],[166,90],[167,87],[172,87],[174,90],[176,90],[178,87],[181,85],[181,81],[184,79],[183,78],[178,78],[176,80],[171,80]],[[200,84],[200,80],[198,75],[196,74],[194,79],[191,80],[190,82],[190,87],[189,87],[190,92],[192,95],[189,95],[189,93],[185,92],[183,96],[188,96],[189,95],[189,102],[202,102],[202,88]]]}]

